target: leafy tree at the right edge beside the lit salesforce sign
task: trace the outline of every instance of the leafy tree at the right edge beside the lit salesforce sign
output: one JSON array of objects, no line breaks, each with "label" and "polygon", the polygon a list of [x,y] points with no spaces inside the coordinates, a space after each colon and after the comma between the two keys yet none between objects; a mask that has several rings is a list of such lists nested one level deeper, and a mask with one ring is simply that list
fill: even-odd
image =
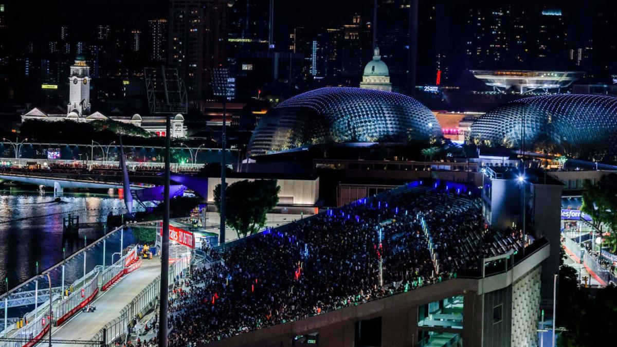
[{"label": "leafy tree at the right edge beside the lit salesforce sign", "polygon": [[603,233],[603,228],[608,228],[608,245],[611,252],[615,253],[617,250],[617,174],[604,175],[596,183],[585,180],[582,212],[592,217],[593,220],[589,224],[598,232]]}]

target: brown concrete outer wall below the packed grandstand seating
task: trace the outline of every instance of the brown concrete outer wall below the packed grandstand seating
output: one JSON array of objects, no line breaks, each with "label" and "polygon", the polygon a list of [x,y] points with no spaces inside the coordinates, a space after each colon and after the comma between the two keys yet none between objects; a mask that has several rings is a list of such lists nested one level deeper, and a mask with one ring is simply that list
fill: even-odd
[{"label": "brown concrete outer wall below the packed grandstand seating", "polygon": [[427,327],[426,330],[460,333],[466,346],[481,345],[481,319],[476,290],[478,281],[458,278],[408,291],[389,298],[320,314],[307,319],[243,333],[208,346],[291,347],[296,335],[319,333],[320,347],[354,347],[355,322],[382,317],[382,346],[414,346],[418,338],[418,306],[449,296],[463,295],[463,330]]}]

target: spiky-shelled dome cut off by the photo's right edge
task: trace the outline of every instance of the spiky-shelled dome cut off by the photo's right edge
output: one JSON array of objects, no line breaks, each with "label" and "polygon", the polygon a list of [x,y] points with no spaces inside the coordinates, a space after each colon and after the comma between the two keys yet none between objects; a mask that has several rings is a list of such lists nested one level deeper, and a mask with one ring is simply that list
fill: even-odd
[{"label": "spiky-shelled dome cut off by the photo's right edge", "polygon": [[552,94],[518,99],[482,115],[471,125],[479,144],[563,153],[581,159],[615,161],[617,98]]}]

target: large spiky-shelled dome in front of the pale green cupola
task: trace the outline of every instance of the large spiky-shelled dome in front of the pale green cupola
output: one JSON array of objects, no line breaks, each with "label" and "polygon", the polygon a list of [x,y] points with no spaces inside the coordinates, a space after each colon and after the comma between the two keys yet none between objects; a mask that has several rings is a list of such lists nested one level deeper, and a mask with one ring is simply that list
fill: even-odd
[{"label": "large spiky-shelled dome in front of the pale green cupola", "polygon": [[399,93],[320,88],[281,102],[253,132],[249,153],[260,155],[323,143],[426,142],[442,136],[435,115]]}]

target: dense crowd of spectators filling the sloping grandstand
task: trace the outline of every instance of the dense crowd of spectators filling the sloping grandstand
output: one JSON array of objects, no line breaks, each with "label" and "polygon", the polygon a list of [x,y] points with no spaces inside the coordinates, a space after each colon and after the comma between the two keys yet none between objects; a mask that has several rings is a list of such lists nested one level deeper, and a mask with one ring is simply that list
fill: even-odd
[{"label": "dense crowd of spectators filling the sloping grandstand", "polygon": [[[207,343],[456,277],[486,253],[475,248],[481,246],[476,235],[496,237],[486,235],[492,231],[480,212],[477,198],[401,188],[205,249],[212,262],[172,295],[170,346]],[[437,262],[422,219],[433,228]],[[462,245],[470,249],[462,253]]]}]

